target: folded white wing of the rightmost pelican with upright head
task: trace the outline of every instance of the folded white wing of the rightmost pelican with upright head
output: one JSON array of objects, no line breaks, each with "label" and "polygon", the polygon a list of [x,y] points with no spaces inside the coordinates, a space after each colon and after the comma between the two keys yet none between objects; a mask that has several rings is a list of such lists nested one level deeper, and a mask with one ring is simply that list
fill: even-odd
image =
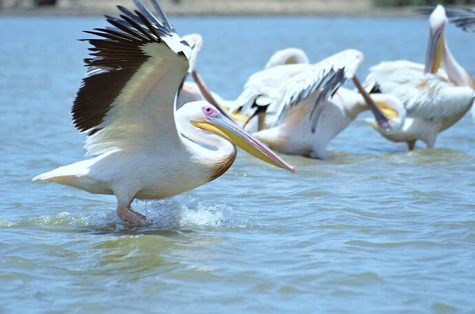
[{"label": "folded white wing of the rightmost pelican with upright head", "polygon": [[399,98],[412,118],[455,116],[466,110],[474,97],[471,88],[455,86],[445,71],[424,74],[423,65],[410,61],[380,63],[370,69],[367,83],[370,81],[376,82],[381,92]]}]

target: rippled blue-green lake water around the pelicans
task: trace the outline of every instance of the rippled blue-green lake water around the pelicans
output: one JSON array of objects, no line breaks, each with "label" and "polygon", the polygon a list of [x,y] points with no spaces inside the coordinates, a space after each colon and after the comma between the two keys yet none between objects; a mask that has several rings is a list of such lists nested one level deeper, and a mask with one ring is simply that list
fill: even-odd
[{"label": "rippled blue-green lake water around the pelicans", "polygon": [[[317,61],[364,52],[423,61],[424,19],[173,18],[200,32],[198,70],[227,98],[275,50]],[[328,160],[297,174],[242,151],[227,173],[168,200],[115,200],[30,178],[83,158],[70,105],[85,74],[81,30],[101,18],[0,18],[0,313],[475,311],[475,139],[467,116],[436,149],[408,153],[355,121]],[[475,74],[475,38],[447,39]],[[419,144],[422,147],[422,144]]]}]

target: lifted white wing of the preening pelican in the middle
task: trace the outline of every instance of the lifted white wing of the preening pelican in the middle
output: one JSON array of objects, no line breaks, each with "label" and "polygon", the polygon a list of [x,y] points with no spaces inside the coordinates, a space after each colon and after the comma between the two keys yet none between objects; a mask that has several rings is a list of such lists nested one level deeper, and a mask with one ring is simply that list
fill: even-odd
[{"label": "lifted white wing of the preening pelican in the middle", "polygon": [[258,107],[264,107],[267,114],[266,123],[273,126],[282,121],[289,109],[298,105],[310,94],[324,90],[327,81],[325,78],[331,77],[328,74],[343,70],[344,78],[351,78],[361,61],[363,61],[361,52],[344,50],[315,65],[292,64],[270,67],[249,78],[233,109],[252,116]]}]

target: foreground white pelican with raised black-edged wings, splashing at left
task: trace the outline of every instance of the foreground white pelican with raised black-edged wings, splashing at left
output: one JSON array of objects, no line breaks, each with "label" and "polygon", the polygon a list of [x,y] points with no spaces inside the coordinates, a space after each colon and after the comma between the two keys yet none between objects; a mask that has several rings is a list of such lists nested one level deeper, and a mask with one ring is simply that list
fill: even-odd
[{"label": "foreground white pelican with raised black-edged wings, splashing at left", "polygon": [[[156,0],[154,16],[139,10],[107,17],[113,27],[96,28],[88,39],[94,70],[83,80],[72,107],[74,125],[88,132],[85,149],[98,155],[59,167],[33,180],[70,185],[90,193],[113,194],[126,222],[145,216],[131,210],[134,198],[167,198],[218,178],[231,166],[235,147],[289,171],[281,158],[207,102],[174,101],[189,68],[191,50]],[[209,147],[215,147],[210,149]]]}]

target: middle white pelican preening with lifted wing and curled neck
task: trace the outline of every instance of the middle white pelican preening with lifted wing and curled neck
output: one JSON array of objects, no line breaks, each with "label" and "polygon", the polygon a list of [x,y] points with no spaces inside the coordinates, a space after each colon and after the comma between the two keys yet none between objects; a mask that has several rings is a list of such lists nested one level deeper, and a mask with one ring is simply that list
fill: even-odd
[{"label": "middle white pelican preening with lifted wing and curled neck", "polygon": [[373,103],[339,88],[355,76],[361,61],[361,52],[344,50],[315,65],[270,67],[249,78],[233,109],[260,118],[253,135],[272,149],[324,159],[330,140],[364,110],[371,109],[386,129],[397,129],[405,118],[394,96],[379,94]]}]

